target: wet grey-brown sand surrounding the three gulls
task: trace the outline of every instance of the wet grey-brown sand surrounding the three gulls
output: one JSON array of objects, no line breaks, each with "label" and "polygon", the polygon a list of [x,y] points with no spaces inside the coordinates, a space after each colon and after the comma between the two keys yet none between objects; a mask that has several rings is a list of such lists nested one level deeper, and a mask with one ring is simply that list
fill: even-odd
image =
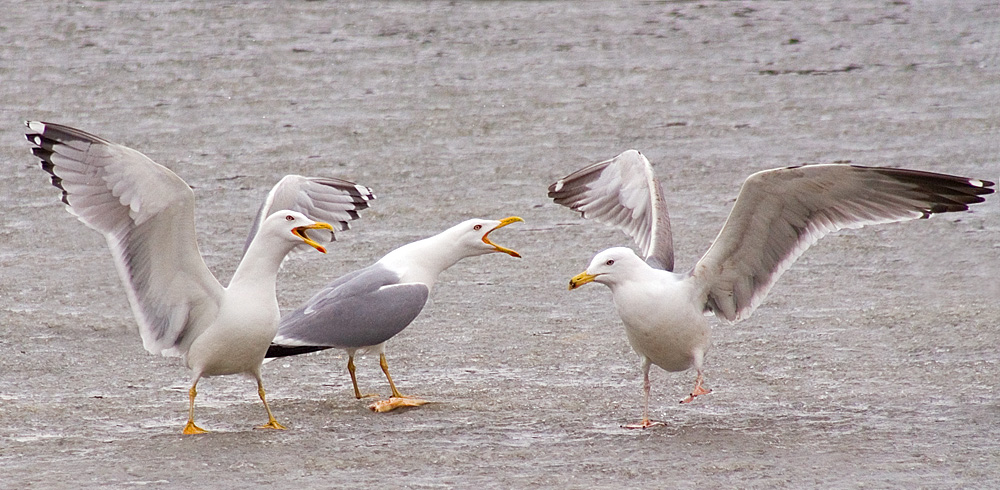
[{"label": "wet grey-brown sand surrounding the three gulls", "polygon": [[[715,391],[638,362],[610,294],[569,277],[624,235],[546,186],[636,148],[663,180],[678,268],[750,173],[850,161],[1000,177],[990,2],[4,1],[0,10],[0,487],[990,487],[1000,475],[1000,200],[842,232],[755,315],[719,324]],[[338,275],[468,217],[519,215],[447,271],[388,344],[404,393],[375,414],[346,357],[199,384],[147,354],[104,240],[58,203],[24,119],[130,145],[195,188],[223,282],[267,189],[331,175],[379,199],[279,281]],[[377,358],[362,389],[387,394]]]}]

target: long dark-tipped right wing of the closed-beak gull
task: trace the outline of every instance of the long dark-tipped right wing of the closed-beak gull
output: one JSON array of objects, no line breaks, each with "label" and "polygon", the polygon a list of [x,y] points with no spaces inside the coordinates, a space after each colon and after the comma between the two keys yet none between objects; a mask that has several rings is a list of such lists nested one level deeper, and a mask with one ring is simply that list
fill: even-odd
[{"label": "long dark-tipped right wing of the closed-beak gull", "polygon": [[749,317],[809,246],[843,228],[964,211],[992,182],[852,165],[812,165],[747,178],[718,237],[692,274],[719,318]]}]

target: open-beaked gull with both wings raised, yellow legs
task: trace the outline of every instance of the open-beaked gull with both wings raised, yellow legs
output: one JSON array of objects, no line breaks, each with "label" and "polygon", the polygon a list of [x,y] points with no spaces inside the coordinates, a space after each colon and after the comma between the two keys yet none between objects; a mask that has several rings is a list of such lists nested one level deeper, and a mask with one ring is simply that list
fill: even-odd
[{"label": "open-beaked gull with both wings raised, yellow legs", "polygon": [[[248,374],[268,421],[284,429],[264,395],[260,367],[278,330],[275,282],[292,249],[326,249],[307,236],[333,226],[294,209],[263,206],[243,260],[228,286],[212,275],[195,239],[194,192],[176,174],[131,148],[59,124],[29,121],[28,141],[62,191],[62,201],[84,224],[107,239],[143,346],[152,354],[180,356],[192,371],[185,434],[205,432],[194,423],[194,399],[203,376]],[[367,206],[370,189],[339,179],[292,176],[272,195],[297,196],[293,208],[338,222],[341,229]],[[322,209],[319,209],[322,208]],[[317,211],[313,213],[312,211]]]}]

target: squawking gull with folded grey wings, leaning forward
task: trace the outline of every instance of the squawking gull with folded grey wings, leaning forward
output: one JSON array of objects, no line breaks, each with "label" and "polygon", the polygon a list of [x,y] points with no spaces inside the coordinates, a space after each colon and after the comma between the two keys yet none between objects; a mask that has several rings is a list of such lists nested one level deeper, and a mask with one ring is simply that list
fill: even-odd
[{"label": "squawking gull with folded grey wings, leaning forward", "polygon": [[370,408],[387,412],[427,403],[403,396],[396,389],[385,359],[385,342],[420,314],[445,269],[464,258],[489,253],[520,257],[490,240],[490,233],[518,221],[523,220],[511,216],[502,220],[463,221],[437,235],[403,245],[378,262],[340,277],[282,317],[267,357],[343,349],[347,351],[354,396],[361,399],[366,395],[358,389],[354,356],[359,351],[377,351],[392,396],[373,403]]}]

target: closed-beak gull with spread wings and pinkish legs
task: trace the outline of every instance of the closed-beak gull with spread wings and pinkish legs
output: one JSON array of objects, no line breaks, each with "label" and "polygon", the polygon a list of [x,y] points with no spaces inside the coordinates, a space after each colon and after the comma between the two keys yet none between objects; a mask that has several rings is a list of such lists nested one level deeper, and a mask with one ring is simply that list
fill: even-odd
[{"label": "closed-beak gull with spread wings and pinkish legs", "polygon": [[649,419],[649,369],[694,368],[687,403],[710,392],[703,362],[710,344],[707,315],[727,322],[748,318],[778,277],[828,233],[864,225],[965,211],[993,192],[993,182],[917,170],[824,164],[757,172],[739,197],[712,246],[695,266],[673,272],[674,252],[663,190],[641,153],[626,151],[549,186],[556,203],[628,234],[629,248],[598,253],[570,279],[611,289],[625,335],[639,355],[643,415]]}]

